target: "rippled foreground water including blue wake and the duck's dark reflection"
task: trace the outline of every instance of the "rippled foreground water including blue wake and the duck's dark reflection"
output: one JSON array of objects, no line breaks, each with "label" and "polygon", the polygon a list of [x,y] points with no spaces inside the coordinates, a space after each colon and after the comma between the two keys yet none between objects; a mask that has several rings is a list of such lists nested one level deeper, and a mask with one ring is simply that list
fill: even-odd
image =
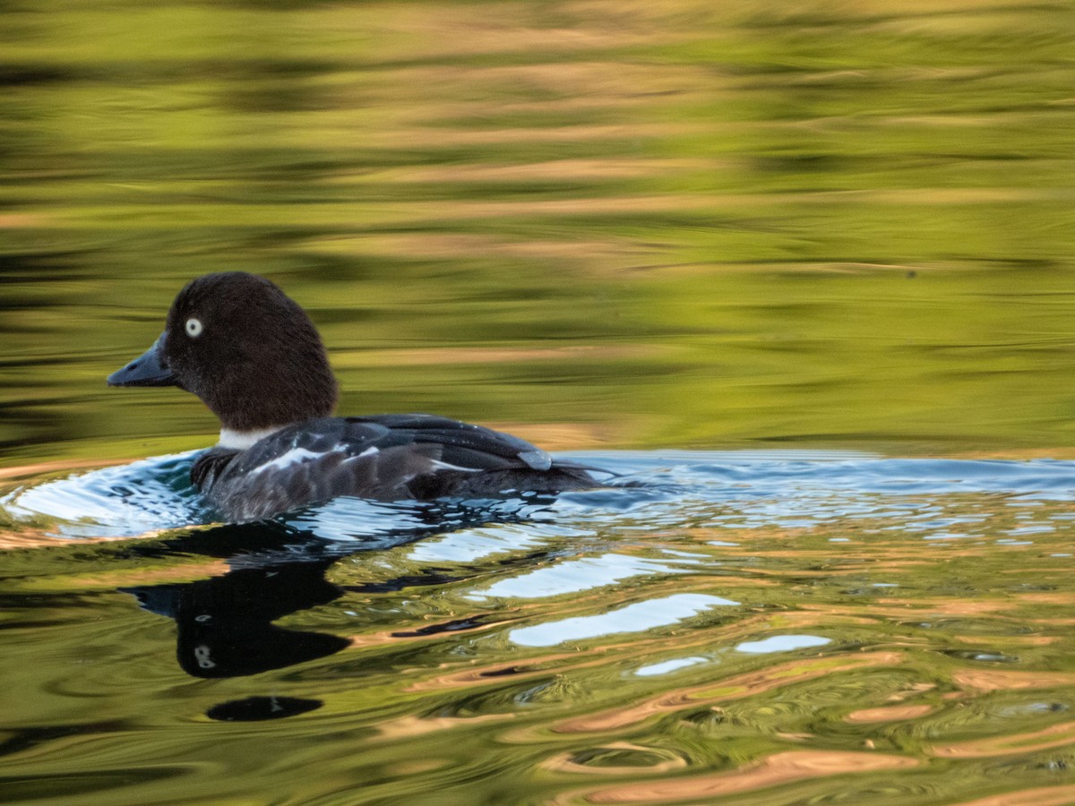
[{"label": "rippled foreground water including blue wake and the duck's dark reflection", "polygon": [[9,490],[5,801],[1070,791],[1075,462],[577,458],[242,527],[175,528],[189,455]]}]

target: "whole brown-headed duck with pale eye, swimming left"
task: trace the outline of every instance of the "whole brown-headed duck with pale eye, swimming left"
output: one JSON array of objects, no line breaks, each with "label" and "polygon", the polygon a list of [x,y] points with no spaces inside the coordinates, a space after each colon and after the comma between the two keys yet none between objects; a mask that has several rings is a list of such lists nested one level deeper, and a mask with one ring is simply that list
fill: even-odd
[{"label": "whole brown-headed duck with pale eye, swimming left", "polygon": [[379,501],[599,486],[510,434],[428,414],[332,417],[336,380],[313,322],[253,274],[180,291],[164,332],[110,386],[177,386],[220,420],[191,481],[230,520],[355,495]]}]

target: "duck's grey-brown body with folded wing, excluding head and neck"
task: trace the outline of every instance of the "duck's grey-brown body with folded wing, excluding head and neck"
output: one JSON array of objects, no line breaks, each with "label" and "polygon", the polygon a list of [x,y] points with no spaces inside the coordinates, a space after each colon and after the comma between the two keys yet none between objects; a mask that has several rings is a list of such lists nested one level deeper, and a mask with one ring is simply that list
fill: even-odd
[{"label": "duck's grey-brown body with folded wing, excluding head and neck", "polygon": [[234,520],[264,518],[339,495],[428,500],[593,484],[585,469],[554,463],[525,440],[424,414],[309,420],[245,451],[206,451],[191,478]]}]

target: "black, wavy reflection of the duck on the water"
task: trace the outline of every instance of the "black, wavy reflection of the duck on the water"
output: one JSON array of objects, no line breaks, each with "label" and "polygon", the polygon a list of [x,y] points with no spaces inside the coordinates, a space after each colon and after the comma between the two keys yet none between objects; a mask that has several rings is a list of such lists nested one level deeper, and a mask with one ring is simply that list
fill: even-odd
[{"label": "black, wavy reflection of the duck on the water", "polygon": [[[360,551],[383,550],[459,528],[528,519],[535,504],[551,496],[496,506],[467,503],[411,509],[398,530],[347,541],[327,539],[301,520],[266,521],[184,532],[161,543],[132,547],[147,557],[198,555],[224,559],[230,570],[192,582],[121,588],[139,604],[175,621],[176,659],[192,677],[229,678],[256,675],[334,654],[350,645],[346,637],[290,630],[273,622],[291,613],[328,604],[345,592],[376,592],[420,584],[413,575],[345,589],[326,579],[340,559]],[[416,517],[417,514],[417,517]],[[420,523],[418,521],[425,521]],[[438,575],[436,581],[444,579]],[[360,618],[360,617],[359,617]],[[214,706],[213,719],[261,720],[301,714],[320,706],[316,700],[253,696]]]}]

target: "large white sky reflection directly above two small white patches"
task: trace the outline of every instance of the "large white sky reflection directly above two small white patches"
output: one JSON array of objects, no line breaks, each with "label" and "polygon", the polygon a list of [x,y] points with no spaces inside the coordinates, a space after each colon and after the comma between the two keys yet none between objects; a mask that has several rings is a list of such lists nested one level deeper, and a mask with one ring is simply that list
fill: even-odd
[{"label": "large white sky reflection directly above two small white patches", "polygon": [[648,602],[636,602],[599,616],[549,621],[512,630],[508,637],[528,647],[551,647],[565,641],[584,641],[615,633],[636,633],[666,627],[697,616],[711,607],[732,606],[739,602],[704,593],[677,593]]}]

